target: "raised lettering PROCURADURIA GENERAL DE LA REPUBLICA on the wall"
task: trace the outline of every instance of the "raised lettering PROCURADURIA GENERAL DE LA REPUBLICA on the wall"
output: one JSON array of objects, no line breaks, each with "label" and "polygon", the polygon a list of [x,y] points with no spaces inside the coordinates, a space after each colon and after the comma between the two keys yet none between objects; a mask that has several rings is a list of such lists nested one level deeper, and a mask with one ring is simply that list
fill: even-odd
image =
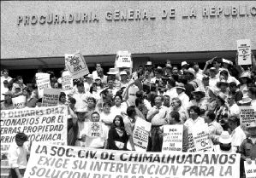
[{"label": "raised lettering PROCURADURIA GENERAL DE LA REPUBLICA on the wall", "polygon": [[[176,19],[182,16],[182,19],[196,19],[197,16],[208,18],[209,20],[219,16],[255,16],[256,6],[208,6],[202,8],[184,8],[184,9],[112,9],[103,14],[96,12],[79,12],[74,14],[32,14],[18,15],[17,25],[61,25],[71,23],[92,23],[101,20],[107,21],[130,21],[130,20],[166,20]],[[100,19],[99,17],[104,17]]]}]

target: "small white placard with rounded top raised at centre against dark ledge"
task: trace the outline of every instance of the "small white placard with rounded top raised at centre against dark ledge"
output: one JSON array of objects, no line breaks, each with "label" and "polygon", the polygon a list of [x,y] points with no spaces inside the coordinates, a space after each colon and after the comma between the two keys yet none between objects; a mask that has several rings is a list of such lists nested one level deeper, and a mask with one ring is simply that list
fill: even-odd
[{"label": "small white placard with rounded top raised at centre against dark ledge", "polygon": [[133,68],[133,62],[131,54],[128,51],[118,51],[116,54],[116,67],[128,67]]}]

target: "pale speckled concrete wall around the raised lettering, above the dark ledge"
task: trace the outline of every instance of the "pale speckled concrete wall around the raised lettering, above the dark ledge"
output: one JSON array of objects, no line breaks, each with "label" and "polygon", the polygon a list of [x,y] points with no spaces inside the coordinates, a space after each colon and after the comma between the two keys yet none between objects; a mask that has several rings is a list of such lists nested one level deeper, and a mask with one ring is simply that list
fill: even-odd
[{"label": "pale speckled concrete wall around the raised lettering, above the dark ledge", "polygon": [[[209,9],[208,17],[203,16],[204,8]],[[224,9],[232,8],[233,15],[224,14]],[[106,20],[107,12],[128,9],[146,9],[148,20]],[[172,9],[175,18],[170,18]],[[162,18],[164,10],[169,13],[166,19]],[[182,17],[187,11],[196,17]],[[31,24],[35,16],[43,21],[41,15],[67,18],[91,12],[98,20]],[[152,12],[154,20],[149,18]],[[255,14],[255,1],[1,2],[1,58],[58,57],[77,49],[83,55],[113,55],[123,49],[132,54],[236,50],[236,39],[242,38],[251,39],[256,49]],[[25,26],[26,15],[30,19]]]}]

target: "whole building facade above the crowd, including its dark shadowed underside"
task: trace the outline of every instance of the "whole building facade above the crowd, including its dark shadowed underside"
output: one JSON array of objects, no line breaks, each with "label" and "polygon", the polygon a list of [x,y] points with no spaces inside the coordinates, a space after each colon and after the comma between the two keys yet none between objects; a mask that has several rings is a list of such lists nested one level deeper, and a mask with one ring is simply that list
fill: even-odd
[{"label": "whole building facade above the crowd, including its dark shadowed underside", "polygon": [[236,40],[256,52],[255,1],[1,1],[1,66],[64,67],[80,50],[88,66],[113,66],[116,52],[134,67],[170,59],[235,59]]}]

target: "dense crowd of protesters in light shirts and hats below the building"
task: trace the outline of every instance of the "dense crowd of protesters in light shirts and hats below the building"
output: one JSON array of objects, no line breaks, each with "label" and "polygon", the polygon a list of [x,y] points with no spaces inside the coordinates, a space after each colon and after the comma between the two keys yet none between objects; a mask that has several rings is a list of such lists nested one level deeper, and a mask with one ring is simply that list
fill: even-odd
[{"label": "dense crowd of protesters in light shirts and hats below the building", "polygon": [[[188,152],[188,133],[207,123],[213,152],[241,153],[241,165],[254,160],[256,123],[241,128],[239,113],[239,106],[256,109],[253,55],[252,61],[250,66],[239,66],[237,59],[233,64],[215,57],[206,61],[204,69],[197,62],[182,61],[180,66],[166,60],[161,67],[147,61],[133,72],[110,68],[106,73],[98,63],[92,74],[74,79],[71,92],[60,94],[59,105],[68,106],[68,146],[134,151],[134,124],[142,118],[152,123],[147,152],[162,151],[163,126],[168,124],[183,125],[182,151]],[[62,89],[62,78],[48,73],[51,88]],[[7,69],[1,72],[1,93],[1,110],[14,109],[12,98],[19,95],[26,95],[27,107],[41,106],[35,80],[27,86],[22,76],[9,77]],[[101,135],[87,135],[90,122],[102,125]],[[19,136],[18,142],[27,141],[26,136]],[[9,158],[12,168],[17,166],[14,160]]]}]

